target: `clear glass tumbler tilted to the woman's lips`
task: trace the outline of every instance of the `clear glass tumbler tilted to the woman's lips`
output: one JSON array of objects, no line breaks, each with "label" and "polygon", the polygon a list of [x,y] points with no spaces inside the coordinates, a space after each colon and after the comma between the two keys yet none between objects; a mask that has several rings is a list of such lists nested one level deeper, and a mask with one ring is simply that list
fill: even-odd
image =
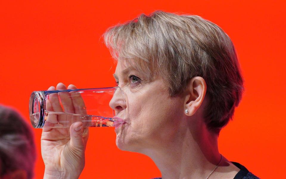
[{"label": "clear glass tumbler tilted to the woman's lips", "polygon": [[29,101],[30,121],[34,128],[65,128],[76,121],[82,121],[83,127],[112,127],[123,122],[114,118],[109,106],[115,94],[125,105],[120,87],[34,91]]}]

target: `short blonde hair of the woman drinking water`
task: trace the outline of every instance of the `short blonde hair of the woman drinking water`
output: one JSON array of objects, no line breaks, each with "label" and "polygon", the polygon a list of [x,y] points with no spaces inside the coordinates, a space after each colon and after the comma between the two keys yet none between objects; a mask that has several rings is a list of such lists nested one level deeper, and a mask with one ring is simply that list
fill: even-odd
[{"label": "short blonde hair of the woman drinking water", "polygon": [[110,27],[104,34],[114,59],[139,65],[148,79],[160,75],[170,96],[183,92],[190,79],[204,78],[209,104],[205,122],[219,133],[234,114],[242,93],[243,77],[234,45],[216,24],[200,16],[155,11]]}]

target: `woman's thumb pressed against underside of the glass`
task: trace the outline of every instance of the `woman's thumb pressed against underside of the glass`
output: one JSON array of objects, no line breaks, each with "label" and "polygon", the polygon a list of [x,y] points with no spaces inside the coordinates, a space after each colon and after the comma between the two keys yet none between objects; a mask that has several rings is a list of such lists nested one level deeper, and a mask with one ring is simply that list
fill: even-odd
[{"label": "woman's thumb pressed against underside of the glass", "polygon": [[84,141],[83,141],[83,123],[75,122],[69,128],[69,132],[71,135],[70,145],[72,149],[82,150],[84,149]]}]

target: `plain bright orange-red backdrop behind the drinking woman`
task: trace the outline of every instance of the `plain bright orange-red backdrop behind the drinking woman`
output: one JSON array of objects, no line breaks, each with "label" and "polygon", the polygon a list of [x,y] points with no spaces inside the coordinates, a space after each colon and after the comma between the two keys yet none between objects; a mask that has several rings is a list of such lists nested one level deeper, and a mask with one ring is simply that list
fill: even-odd
[{"label": "plain bright orange-red backdrop behind the drinking woman", "polygon": [[[108,27],[154,10],[202,16],[225,30],[237,49],[245,93],[220,152],[260,178],[285,175],[285,1],[0,1],[0,103],[28,121],[29,95],[58,82],[114,86],[111,55],[100,40]],[[42,178],[41,129],[35,178]],[[91,128],[80,178],[161,176],[153,161],[120,151],[114,128]],[[190,161],[191,162],[191,161]]]}]

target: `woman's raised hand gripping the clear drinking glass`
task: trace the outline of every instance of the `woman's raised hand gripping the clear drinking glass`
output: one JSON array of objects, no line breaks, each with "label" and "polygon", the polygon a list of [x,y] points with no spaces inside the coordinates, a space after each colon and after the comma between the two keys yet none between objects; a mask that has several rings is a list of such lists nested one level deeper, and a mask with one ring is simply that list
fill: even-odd
[{"label": "woman's raised hand gripping the clear drinking glass", "polygon": [[[68,89],[76,89],[69,85]],[[66,90],[62,83],[57,88],[49,87],[48,90]],[[47,99],[46,109],[54,112],[84,113],[83,99],[79,95],[53,94]],[[64,96],[64,98],[63,98]],[[60,105],[59,98],[62,101]],[[62,98],[61,98],[62,97]],[[63,102],[69,99],[70,101]],[[47,121],[49,117],[48,115]],[[60,116],[57,116],[60,118]],[[58,119],[60,121],[60,119]],[[78,178],[85,165],[85,149],[88,139],[88,128],[83,128],[82,122],[75,122],[70,128],[48,128],[43,127],[41,137],[41,152],[45,163],[44,178]]]}]

